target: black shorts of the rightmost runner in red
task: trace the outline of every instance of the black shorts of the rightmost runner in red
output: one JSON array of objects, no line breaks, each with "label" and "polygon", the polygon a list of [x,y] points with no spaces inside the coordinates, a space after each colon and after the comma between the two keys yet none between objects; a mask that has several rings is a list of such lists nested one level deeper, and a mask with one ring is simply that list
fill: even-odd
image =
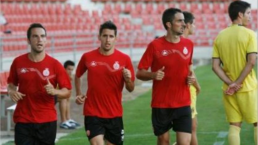
[{"label": "black shorts of the rightmost runner in red", "polygon": [[159,136],[171,129],[175,132],[192,132],[190,106],[180,108],[152,108],[152,127]]}]

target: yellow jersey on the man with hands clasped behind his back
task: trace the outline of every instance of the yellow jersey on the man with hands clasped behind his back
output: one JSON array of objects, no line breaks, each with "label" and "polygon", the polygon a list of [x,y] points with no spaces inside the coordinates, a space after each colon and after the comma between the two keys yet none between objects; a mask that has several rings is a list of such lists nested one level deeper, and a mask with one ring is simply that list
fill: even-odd
[{"label": "yellow jersey on the man with hands clasped behind his back", "polygon": [[[240,25],[230,25],[216,37],[213,45],[213,58],[219,58],[225,74],[235,81],[245,68],[247,54],[257,53],[257,38],[255,33]],[[222,89],[228,88],[226,83]],[[243,81],[243,87],[238,92],[252,91],[257,88],[254,69]]]}]

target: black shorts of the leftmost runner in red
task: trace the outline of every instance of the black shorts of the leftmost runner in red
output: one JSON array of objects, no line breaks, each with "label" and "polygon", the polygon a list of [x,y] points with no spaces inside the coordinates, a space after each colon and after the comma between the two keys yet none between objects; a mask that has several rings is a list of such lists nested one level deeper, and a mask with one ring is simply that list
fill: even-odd
[{"label": "black shorts of the leftmost runner in red", "polygon": [[14,140],[16,145],[54,145],[57,122],[16,123]]}]

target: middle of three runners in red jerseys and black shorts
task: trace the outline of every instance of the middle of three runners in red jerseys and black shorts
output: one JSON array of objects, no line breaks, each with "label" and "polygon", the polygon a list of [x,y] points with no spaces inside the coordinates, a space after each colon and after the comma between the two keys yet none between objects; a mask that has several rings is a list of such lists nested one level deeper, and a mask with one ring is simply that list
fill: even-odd
[{"label": "middle of three runners in red jerseys and black shorts", "polygon": [[[124,139],[122,90],[134,90],[134,70],[128,55],[115,49],[117,28],[107,21],[100,26],[100,47],[82,55],[76,69],[77,104],[84,102],[84,125],[91,145],[122,145]],[[80,77],[88,71],[87,94]]]}]

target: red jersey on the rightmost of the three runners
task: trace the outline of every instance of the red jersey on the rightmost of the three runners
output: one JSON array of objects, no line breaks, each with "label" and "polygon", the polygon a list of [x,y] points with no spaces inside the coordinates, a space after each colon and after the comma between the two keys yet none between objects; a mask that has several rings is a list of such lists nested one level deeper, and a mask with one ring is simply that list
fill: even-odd
[{"label": "red jersey on the rightmost of the three runners", "polygon": [[159,37],[148,45],[138,69],[156,72],[165,66],[161,81],[153,80],[152,108],[178,108],[191,104],[189,85],[186,83],[189,65],[192,64],[193,42],[180,37],[171,43]]}]

